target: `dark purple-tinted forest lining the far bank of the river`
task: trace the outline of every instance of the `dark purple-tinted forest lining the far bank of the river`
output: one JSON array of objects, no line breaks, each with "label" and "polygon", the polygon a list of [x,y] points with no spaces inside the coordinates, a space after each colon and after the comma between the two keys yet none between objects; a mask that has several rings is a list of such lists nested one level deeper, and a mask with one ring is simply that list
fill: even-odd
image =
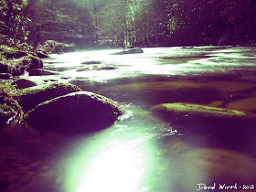
[{"label": "dark purple-tinted forest lining the far bank of the river", "polygon": [[123,48],[240,44],[256,39],[255,26],[255,0],[0,1],[1,44],[78,37]]}]

